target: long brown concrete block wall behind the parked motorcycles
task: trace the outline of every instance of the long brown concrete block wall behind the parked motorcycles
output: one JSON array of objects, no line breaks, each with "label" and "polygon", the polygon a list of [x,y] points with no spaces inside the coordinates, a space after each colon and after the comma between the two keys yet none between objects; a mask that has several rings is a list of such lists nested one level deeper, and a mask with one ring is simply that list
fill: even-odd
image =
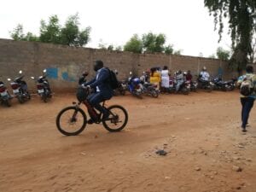
[{"label": "long brown concrete block wall behind the parked motorcycles", "polygon": [[24,79],[33,90],[35,90],[35,82],[30,77],[41,75],[44,68],[48,70],[49,83],[55,91],[74,90],[83,71],[89,71],[88,79],[95,75],[92,63],[96,60],[102,60],[106,67],[117,69],[119,79],[126,79],[130,71],[142,74],[148,68],[165,65],[170,68],[172,74],[181,69],[191,70],[195,75],[199,73],[201,67],[206,66],[213,75],[223,73],[225,79],[234,75],[228,70],[226,62],[216,59],[165,54],[139,55],[130,52],[0,39],[0,80],[7,84],[7,78],[15,78],[19,70],[22,70]]}]

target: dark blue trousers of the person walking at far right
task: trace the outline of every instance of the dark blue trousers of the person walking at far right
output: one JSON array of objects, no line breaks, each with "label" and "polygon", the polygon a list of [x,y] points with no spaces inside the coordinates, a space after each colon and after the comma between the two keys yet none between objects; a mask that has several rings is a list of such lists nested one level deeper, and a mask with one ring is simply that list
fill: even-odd
[{"label": "dark blue trousers of the person walking at far right", "polygon": [[252,97],[241,97],[241,128],[246,129],[249,113],[253,108],[254,99]]}]

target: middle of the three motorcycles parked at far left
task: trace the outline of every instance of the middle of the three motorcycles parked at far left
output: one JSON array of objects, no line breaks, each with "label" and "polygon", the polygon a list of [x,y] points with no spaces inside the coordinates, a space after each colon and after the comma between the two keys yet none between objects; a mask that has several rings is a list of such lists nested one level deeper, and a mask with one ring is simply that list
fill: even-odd
[{"label": "middle of the three motorcycles parked at far left", "polygon": [[[22,71],[20,70],[20,75],[22,74]],[[13,93],[15,97],[17,97],[18,101],[20,103],[24,103],[27,100],[31,99],[31,96],[27,90],[27,84],[26,81],[22,80],[24,78],[24,75],[21,75],[18,78],[15,78],[13,82],[10,83]],[[8,79],[8,81],[11,81],[11,79]]]}]

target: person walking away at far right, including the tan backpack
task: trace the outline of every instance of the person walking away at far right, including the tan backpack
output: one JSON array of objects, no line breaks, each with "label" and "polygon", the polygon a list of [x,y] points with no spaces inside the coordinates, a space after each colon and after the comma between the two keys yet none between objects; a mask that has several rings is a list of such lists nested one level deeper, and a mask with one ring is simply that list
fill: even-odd
[{"label": "person walking away at far right, including the tan backpack", "polygon": [[253,74],[253,66],[247,66],[246,74],[238,78],[237,85],[241,92],[241,129],[246,132],[249,113],[256,99],[256,75]]}]

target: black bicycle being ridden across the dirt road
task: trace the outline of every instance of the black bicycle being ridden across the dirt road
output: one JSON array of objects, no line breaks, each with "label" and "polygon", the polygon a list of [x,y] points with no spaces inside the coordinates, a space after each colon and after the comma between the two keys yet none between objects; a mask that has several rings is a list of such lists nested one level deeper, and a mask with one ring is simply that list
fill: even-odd
[{"label": "black bicycle being ridden across the dirt road", "polygon": [[[80,93],[79,93],[80,92]],[[79,96],[80,95],[80,96]],[[78,100],[79,102],[73,102],[73,106],[63,108],[56,117],[56,126],[58,130],[65,136],[76,136],[84,131],[87,125],[87,116],[84,113],[84,110],[80,108],[81,103],[84,103],[85,107],[88,110],[91,119],[94,119],[96,124],[101,124],[104,128],[110,132],[121,131],[125,128],[125,125],[128,122],[128,113],[120,105],[105,106],[105,102],[102,102],[102,107],[108,110],[109,117],[107,119],[102,119],[102,113],[96,113],[96,110],[90,106],[90,103],[87,101],[87,96],[89,95],[89,90],[85,90],[83,87],[80,87],[78,90]],[[67,119],[65,117],[67,116]],[[67,123],[67,125],[63,125]],[[78,125],[76,128],[73,126]],[[113,127],[112,127],[113,125]]]}]

